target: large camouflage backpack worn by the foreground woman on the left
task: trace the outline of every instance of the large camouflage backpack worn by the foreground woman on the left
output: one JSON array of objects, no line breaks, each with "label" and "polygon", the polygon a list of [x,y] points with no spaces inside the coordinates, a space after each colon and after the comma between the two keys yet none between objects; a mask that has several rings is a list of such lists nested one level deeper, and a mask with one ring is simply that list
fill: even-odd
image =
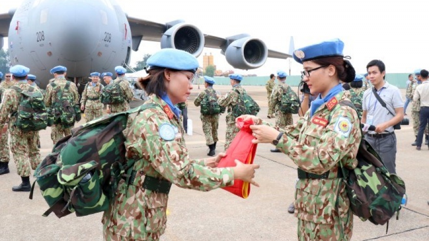
[{"label": "large camouflage backpack worn by the foreground woman on the left", "polygon": [[[106,115],[72,130],[59,140],[39,164],[34,177],[49,209],[61,218],[76,212],[86,216],[109,207],[121,178],[130,177],[134,160],[125,158],[123,130],[128,116],[156,108],[147,104],[130,111]],[[33,183],[30,199],[33,199]]]}]

